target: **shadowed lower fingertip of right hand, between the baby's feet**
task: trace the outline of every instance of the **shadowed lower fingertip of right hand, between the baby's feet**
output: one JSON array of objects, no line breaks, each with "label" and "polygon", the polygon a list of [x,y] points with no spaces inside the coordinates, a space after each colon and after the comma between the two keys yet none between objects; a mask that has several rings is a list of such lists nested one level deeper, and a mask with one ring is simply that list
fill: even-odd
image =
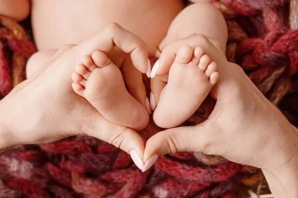
[{"label": "shadowed lower fingertip of right hand, between the baby's feet", "polygon": [[159,97],[160,97],[160,93],[163,90],[163,88],[166,86],[166,82],[164,81],[162,76],[155,76],[154,78],[150,79],[150,89],[151,89],[151,93],[150,93],[150,106],[151,106],[151,110],[154,110]]}]

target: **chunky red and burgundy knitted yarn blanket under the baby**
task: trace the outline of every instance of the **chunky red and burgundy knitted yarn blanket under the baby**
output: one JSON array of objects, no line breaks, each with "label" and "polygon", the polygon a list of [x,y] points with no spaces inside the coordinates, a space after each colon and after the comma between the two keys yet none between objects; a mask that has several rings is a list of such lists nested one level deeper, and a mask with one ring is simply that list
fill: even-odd
[{"label": "chunky red and burgundy knitted yarn blanket under the baby", "polygon": [[[228,25],[228,60],[241,65],[298,126],[298,0],[213,3]],[[0,97],[4,97],[24,80],[26,60],[36,49],[17,23],[0,16],[0,24]],[[151,58],[152,63],[155,60]],[[144,81],[149,88],[148,79]],[[214,105],[208,97],[183,125],[203,122]],[[158,131],[151,120],[140,134],[147,140]],[[0,153],[0,198],[238,198],[260,179],[253,167],[193,152],[161,156],[142,173],[124,151],[86,136]]]}]

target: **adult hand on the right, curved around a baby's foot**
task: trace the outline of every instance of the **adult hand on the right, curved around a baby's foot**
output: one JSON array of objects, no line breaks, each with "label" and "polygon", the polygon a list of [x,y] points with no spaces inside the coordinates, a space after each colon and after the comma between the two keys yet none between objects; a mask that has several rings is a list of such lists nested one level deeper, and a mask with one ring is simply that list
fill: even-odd
[{"label": "adult hand on the right, curved around a baby's foot", "polygon": [[191,35],[166,46],[159,58],[157,75],[168,73],[177,51],[184,45],[201,47],[217,62],[220,80],[211,91],[217,103],[205,122],[152,136],[146,143],[143,171],[166,153],[197,151],[221,155],[236,163],[262,168],[275,197],[297,197],[298,130],[262,95],[240,66],[227,62],[224,54],[203,35]]}]

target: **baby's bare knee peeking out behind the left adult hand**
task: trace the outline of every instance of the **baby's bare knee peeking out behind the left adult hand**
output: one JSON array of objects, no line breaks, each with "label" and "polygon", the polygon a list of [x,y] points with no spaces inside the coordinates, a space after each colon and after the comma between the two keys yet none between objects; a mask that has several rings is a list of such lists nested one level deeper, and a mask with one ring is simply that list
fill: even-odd
[{"label": "baby's bare knee peeking out behind the left adult hand", "polygon": [[32,76],[42,65],[44,65],[57,50],[44,50],[34,53],[26,65],[26,77]]}]

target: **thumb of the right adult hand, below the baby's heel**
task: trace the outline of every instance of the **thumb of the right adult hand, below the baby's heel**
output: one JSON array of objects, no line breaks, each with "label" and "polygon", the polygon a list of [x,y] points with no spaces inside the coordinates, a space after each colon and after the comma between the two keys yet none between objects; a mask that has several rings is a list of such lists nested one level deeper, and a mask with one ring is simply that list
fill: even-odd
[{"label": "thumb of the right adult hand, below the baby's heel", "polygon": [[158,156],[168,153],[196,151],[215,154],[214,129],[209,130],[209,123],[205,121],[197,126],[167,129],[152,136],[146,143],[143,158],[145,165],[142,171],[147,171]]}]

